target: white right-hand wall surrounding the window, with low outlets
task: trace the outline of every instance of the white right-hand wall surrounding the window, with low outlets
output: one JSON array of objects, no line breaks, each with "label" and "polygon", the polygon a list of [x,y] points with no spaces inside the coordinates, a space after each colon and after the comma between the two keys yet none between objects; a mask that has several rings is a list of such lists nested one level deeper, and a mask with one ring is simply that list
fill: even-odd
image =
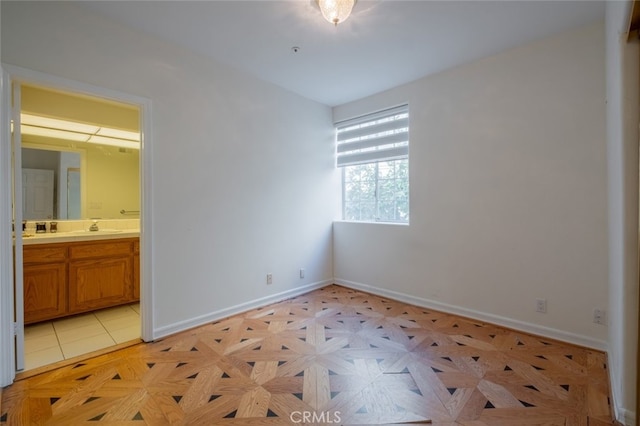
[{"label": "white right-hand wall surrounding the window, with low outlets", "polygon": [[334,108],[408,101],[411,117],[411,223],[335,223],[337,282],[606,348],[592,321],[608,306],[603,29]]}]

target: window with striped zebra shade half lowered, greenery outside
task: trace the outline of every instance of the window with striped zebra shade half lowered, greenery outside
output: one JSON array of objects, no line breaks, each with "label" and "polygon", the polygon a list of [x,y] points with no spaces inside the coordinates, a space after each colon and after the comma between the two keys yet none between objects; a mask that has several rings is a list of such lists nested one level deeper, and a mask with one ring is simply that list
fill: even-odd
[{"label": "window with striped zebra shade half lowered, greenery outside", "polygon": [[408,223],[408,106],[343,121],[336,130],[342,218]]}]

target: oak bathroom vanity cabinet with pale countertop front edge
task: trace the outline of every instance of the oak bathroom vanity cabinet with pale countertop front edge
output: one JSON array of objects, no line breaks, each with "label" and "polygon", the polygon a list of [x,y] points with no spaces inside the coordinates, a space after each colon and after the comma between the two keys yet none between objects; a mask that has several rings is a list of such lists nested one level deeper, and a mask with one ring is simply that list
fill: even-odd
[{"label": "oak bathroom vanity cabinet with pale countertop front edge", "polygon": [[47,234],[23,244],[25,324],[140,299],[138,232]]}]

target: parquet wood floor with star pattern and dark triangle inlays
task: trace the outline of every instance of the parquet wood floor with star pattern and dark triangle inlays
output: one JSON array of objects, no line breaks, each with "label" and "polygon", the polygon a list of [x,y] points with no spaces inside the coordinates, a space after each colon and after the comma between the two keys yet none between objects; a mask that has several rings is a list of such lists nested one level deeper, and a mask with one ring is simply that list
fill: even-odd
[{"label": "parquet wood floor with star pattern and dark triangle inlays", "polygon": [[0,404],[9,425],[429,421],[611,425],[606,356],[332,285],[17,381]]}]

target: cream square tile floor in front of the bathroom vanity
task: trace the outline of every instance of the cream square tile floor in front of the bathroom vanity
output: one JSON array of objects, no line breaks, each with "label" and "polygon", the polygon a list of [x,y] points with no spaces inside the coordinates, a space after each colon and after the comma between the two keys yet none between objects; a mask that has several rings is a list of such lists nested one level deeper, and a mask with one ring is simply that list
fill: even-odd
[{"label": "cream square tile floor in front of the bathroom vanity", "polygon": [[140,338],[140,305],[117,306],[24,328],[25,370]]}]

